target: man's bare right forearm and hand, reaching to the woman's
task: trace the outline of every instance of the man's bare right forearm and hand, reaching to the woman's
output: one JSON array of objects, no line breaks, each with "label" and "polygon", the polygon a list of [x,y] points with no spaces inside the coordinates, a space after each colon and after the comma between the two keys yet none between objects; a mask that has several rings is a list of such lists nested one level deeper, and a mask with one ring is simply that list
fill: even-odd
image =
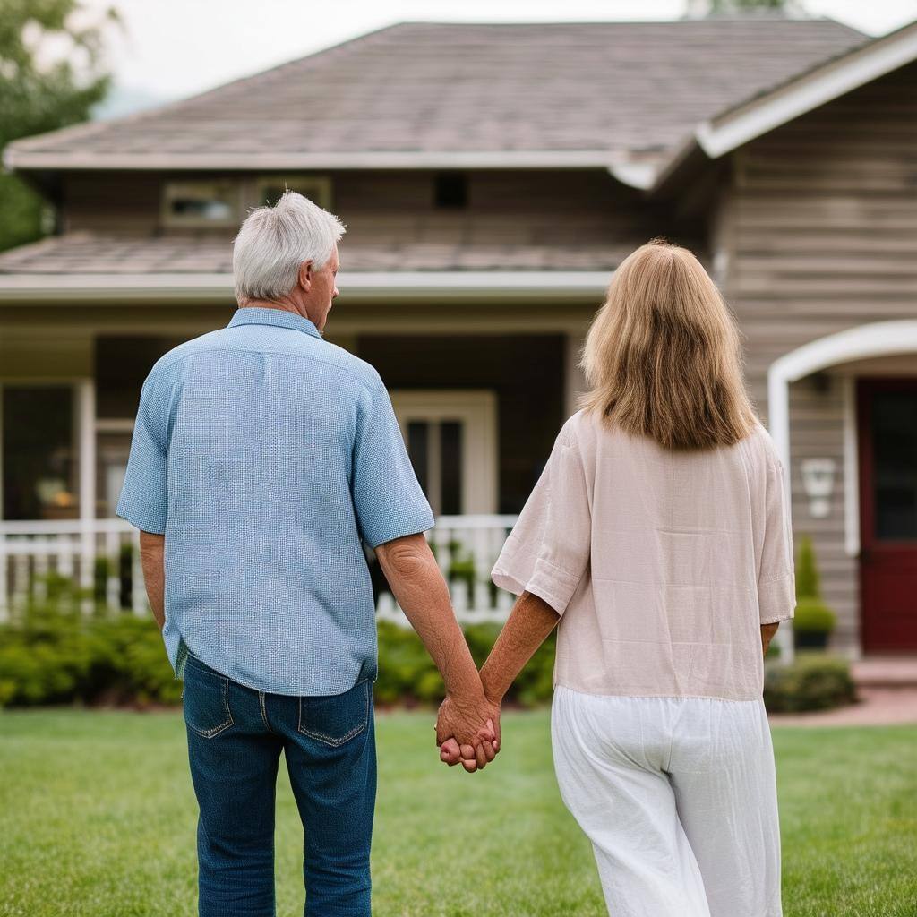
[{"label": "man's bare right forearm and hand, reaching to the woman's", "polygon": [[395,599],[446,684],[447,710],[436,720],[436,744],[454,737],[464,757],[483,768],[493,760],[494,745],[499,743],[500,708],[484,696],[430,546],[423,535],[407,535],[376,547],[376,556]]}]

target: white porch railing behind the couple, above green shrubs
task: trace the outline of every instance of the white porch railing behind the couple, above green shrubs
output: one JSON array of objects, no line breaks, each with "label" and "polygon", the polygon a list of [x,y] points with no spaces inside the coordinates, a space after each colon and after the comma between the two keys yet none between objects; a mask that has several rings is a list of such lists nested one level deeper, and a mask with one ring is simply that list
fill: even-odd
[{"label": "white porch railing behind the couple, above green shrubs", "polygon": [[[442,516],[429,534],[462,623],[500,622],[512,608],[513,596],[492,586],[490,572],[515,521],[516,516]],[[78,601],[87,611],[104,602],[149,613],[132,525],[121,519],[0,522],[0,620],[48,599],[55,579],[77,584],[83,593]],[[407,626],[390,592],[381,592],[377,611],[382,620]]]}]

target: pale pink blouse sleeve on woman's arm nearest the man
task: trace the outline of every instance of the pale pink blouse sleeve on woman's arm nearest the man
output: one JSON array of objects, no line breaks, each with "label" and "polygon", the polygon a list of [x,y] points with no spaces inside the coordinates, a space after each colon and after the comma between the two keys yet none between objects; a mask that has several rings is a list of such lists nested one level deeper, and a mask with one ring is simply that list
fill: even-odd
[{"label": "pale pink blouse sleeve on woman's arm nearest the man", "polygon": [[563,614],[589,566],[592,514],[580,447],[561,430],[492,570],[501,589],[531,592]]}]

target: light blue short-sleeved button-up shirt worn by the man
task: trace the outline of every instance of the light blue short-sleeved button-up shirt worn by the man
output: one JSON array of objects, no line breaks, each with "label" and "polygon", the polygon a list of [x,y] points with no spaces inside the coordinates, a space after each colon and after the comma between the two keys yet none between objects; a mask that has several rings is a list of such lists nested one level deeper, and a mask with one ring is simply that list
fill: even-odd
[{"label": "light blue short-sleeved button-up shirt worn by the man", "polygon": [[379,374],[308,319],[239,309],[140,393],[116,513],[165,535],[163,638],[258,691],[377,670],[361,542],[433,525]]}]

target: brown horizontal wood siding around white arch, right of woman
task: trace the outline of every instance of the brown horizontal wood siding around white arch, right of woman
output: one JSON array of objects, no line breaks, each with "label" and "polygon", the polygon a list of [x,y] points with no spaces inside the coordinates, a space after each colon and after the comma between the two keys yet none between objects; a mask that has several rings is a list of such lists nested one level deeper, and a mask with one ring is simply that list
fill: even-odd
[{"label": "brown horizontal wood siding around white arch, right of woman", "polygon": [[[802,116],[736,151],[714,229],[727,296],[746,334],[762,416],[767,373],[820,337],[917,318],[917,65]],[[917,373],[917,355],[910,361]],[[859,564],[845,552],[844,388],[826,374],[790,390],[793,521],[811,534],[835,645],[857,646]],[[803,458],[834,458],[831,513],[814,519]]]}]

